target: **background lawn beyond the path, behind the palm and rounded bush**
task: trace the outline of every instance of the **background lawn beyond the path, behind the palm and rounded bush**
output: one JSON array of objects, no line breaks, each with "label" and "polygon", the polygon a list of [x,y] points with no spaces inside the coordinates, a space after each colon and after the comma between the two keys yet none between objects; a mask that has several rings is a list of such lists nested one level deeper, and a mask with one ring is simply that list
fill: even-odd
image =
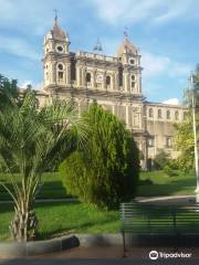
[{"label": "background lawn beyond the path, behind the palm and rounded bush", "polygon": [[[7,181],[7,177],[0,174],[0,179]],[[144,183],[146,179],[153,181],[153,184]],[[69,198],[62,184],[59,172],[44,173],[43,186],[38,198],[41,199],[62,199]],[[193,174],[185,176],[178,172],[178,176],[168,177],[163,171],[140,172],[140,184],[138,187],[137,195],[155,197],[155,195],[176,195],[176,194],[193,194],[196,187],[196,179]],[[9,194],[0,187],[0,200],[10,199]]]}]

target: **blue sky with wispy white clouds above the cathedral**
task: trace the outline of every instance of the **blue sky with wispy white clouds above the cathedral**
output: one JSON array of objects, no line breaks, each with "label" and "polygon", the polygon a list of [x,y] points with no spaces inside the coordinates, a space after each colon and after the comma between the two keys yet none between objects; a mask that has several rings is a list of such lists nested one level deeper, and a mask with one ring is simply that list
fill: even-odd
[{"label": "blue sky with wispy white clouds above the cathedral", "polygon": [[139,47],[143,94],[150,102],[180,103],[199,63],[198,0],[0,0],[0,73],[19,86],[42,87],[43,36],[54,9],[71,51],[116,55],[127,29]]}]

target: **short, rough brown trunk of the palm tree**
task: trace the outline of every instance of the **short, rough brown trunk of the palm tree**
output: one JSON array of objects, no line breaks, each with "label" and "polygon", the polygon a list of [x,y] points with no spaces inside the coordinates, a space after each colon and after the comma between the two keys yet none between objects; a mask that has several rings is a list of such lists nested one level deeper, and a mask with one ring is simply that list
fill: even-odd
[{"label": "short, rough brown trunk of the palm tree", "polygon": [[32,208],[21,205],[15,208],[13,221],[10,224],[10,233],[17,242],[34,240],[38,230],[38,219]]}]

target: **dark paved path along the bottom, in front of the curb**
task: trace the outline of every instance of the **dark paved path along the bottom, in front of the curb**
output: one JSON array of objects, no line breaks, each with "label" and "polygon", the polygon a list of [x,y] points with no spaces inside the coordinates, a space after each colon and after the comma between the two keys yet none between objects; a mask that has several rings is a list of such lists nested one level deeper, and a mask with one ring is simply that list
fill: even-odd
[{"label": "dark paved path along the bottom, in front of the curb", "polygon": [[192,258],[158,258],[150,261],[148,257],[151,247],[134,247],[127,253],[126,258],[122,258],[122,247],[76,247],[62,253],[43,255],[38,257],[29,257],[24,259],[0,259],[0,265],[150,265],[150,264],[167,264],[167,265],[186,265],[199,264],[199,248],[155,248],[158,253],[191,253]]}]

